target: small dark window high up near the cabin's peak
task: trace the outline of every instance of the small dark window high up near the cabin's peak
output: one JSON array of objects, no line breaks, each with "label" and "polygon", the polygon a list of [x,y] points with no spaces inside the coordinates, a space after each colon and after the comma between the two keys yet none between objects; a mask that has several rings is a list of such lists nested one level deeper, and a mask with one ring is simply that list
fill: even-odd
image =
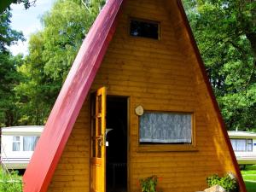
[{"label": "small dark window high up near the cabin's peak", "polygon": [[148,20],[131,19],[130,35],[141,38],[160,38],[160,23]]}]

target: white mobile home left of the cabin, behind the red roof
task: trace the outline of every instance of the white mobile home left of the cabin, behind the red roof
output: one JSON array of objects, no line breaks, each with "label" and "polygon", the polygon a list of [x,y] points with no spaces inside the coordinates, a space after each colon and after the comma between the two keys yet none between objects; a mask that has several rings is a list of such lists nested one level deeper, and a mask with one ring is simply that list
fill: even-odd
[{"label": "white mobile home left of the cabin, behind the red roof", "polygon": [[1,129],[1,162],[7,169],[26,169],[44,126],[12,126]]}]

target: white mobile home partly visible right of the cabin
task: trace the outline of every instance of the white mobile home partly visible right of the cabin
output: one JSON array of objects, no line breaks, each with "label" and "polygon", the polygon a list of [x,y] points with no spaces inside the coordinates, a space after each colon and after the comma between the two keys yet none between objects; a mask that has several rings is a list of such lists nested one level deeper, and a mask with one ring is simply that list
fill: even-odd
[{"label": "white mobile home partly visible right of the cabin", "polygon": [[228,131],[228,133],[238,164],[256,164],[256,133],[248,131]]}]

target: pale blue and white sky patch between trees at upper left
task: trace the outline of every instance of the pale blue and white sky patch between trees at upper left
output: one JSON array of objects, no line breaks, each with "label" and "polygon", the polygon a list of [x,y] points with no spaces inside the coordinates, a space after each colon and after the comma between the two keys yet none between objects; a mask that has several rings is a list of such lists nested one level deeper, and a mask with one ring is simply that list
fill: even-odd
[{"label": "pale blue and white sky patch between trees at upper left", "polygon": [[11,4],[11,27],[16,31],[23,32],[26,38],[25,42],[19,41],[18,44],[11,45],[9,47],[13,55],[22,53],[28,54],[28,40],[32,33],[42,29],[40,18],[46,11],[48,11],[55,0],[37,0],[35,5],[29,9],[25,9],[22,3]]}]

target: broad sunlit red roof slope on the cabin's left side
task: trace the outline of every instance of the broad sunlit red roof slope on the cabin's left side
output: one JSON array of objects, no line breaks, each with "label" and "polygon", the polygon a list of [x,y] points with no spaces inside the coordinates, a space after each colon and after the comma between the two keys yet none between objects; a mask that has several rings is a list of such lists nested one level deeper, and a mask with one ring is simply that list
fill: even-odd
[{"label": "broad sunlit red roof slope on the cabin's left side", "polygon": [[23,177],[24,192],[48,189],[73,125],[113,38],[124,0],[108,0],[79,49]]}]

